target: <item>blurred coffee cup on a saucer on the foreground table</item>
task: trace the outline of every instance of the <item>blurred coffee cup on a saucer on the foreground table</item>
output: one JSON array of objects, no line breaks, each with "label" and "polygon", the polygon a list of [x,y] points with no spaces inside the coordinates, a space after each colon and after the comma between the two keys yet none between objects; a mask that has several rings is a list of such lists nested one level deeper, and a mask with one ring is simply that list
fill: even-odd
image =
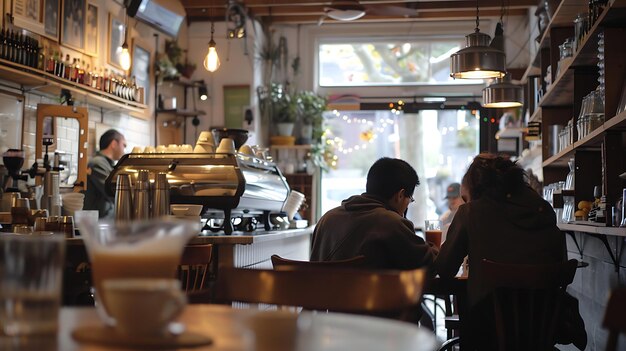
[{"label": "blurred coffee cup on a saucer on the foreground table", "polygon": [[187,304],[176,279],[109,279],[103,286],[115,330],[127,335],[167,334]]}]

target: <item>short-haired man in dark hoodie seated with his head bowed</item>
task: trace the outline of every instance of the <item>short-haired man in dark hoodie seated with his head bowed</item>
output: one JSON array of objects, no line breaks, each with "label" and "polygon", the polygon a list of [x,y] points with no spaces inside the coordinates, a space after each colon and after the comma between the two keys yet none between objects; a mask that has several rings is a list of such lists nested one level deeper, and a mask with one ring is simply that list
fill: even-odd
[{"label": "short-haired man in dark hoodie seated with his head bowed", "polygon": [[419,185],[407,162],[381,158],[367,174],[366,192],[328,211],[313,232],[311,261],[336,261],[364,255],[376,269],[430,265],[437,249],[417,236],[404,218]]}]

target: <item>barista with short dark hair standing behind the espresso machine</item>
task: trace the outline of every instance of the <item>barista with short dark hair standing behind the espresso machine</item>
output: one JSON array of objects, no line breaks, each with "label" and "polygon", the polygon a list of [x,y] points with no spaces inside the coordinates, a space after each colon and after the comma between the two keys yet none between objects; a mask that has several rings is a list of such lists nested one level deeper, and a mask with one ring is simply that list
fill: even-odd
[{"label": "barista with short dark hair standing behind the espresso machine", "polygon": [[115,129],[109,129],[100,137],[100,151],[87,165],[87,190],[85,191],[85,210],[97,210],[100,218],[113,218],[114,198],[104,189],[104,181],[109,176],[114,161],[124,155],[126,138]]}]

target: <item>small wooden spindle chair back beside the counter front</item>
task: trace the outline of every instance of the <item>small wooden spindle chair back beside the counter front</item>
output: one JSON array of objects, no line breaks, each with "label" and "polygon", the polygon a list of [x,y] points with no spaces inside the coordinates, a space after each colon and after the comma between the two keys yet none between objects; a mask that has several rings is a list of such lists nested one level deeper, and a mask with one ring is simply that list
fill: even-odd
[{"label": "small wooden spindle chair back beside the counter front", "polygon": [[188,294],[207,288],[213,245],[187,245],[178,266],[178,278]]}]

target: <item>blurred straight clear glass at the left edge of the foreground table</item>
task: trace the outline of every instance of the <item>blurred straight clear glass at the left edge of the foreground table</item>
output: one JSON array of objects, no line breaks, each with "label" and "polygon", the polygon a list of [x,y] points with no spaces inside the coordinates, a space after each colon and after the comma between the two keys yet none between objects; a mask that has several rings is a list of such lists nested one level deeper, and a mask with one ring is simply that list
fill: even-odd
[{"label": "blurred straight clear glass at the left edge of the foreground table", "polygon": [[56,335],[64,265],[64,235],[0,236],[0,341]]}]

